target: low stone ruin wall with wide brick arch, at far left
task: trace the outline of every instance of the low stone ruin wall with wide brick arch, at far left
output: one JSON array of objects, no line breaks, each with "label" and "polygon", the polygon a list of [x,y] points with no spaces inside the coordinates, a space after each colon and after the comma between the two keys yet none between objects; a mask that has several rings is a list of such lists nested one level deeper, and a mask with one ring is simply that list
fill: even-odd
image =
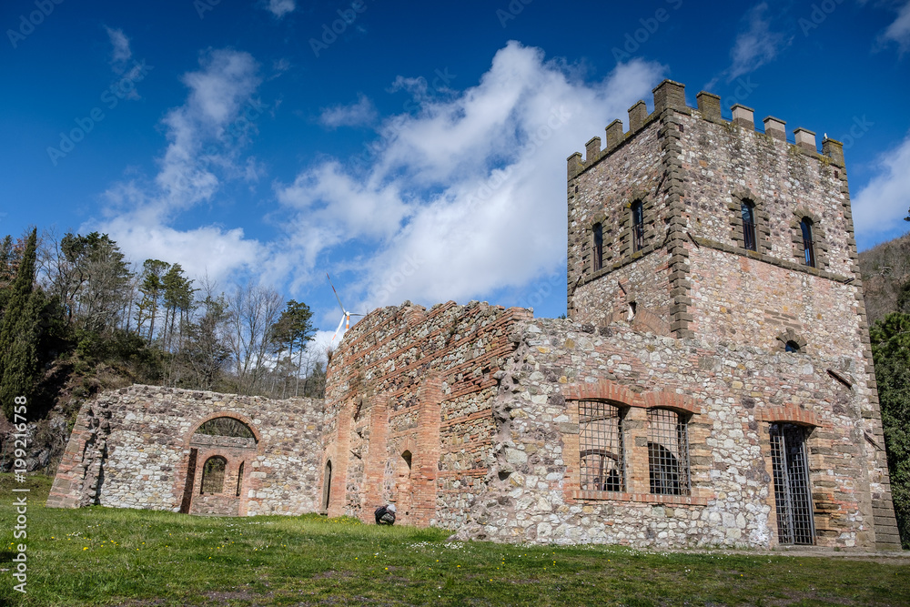
[{"label": "low stone ruin wall with wide brick arch, at far left", "polygon": [[[141,385],[108,391],[79,411],[47,505],[241,516],[316,511],[322,415],[321,400]],[[256,440],[194,435],[218,417],[244,422]],[[201,495],[201,470],[213,455],[228,461],[225,489]]]}]

